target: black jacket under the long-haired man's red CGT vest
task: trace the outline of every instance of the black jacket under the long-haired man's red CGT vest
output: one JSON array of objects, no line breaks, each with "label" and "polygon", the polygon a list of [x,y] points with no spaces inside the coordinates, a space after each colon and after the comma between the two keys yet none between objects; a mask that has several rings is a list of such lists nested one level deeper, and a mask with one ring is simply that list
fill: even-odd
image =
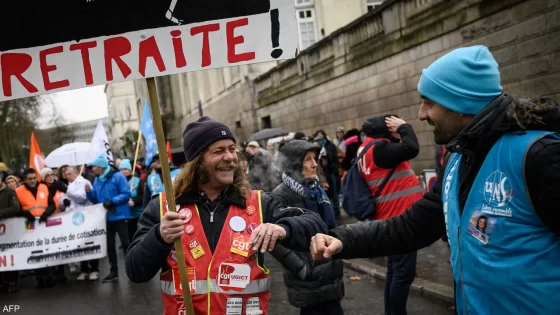
[{"label": "black jacket under the long-haired man's red CGT vest", "polygon": [[[204,193],[187,192],[176,199],[177,204],[196,203],[200,211],[200,219],[204,234],[212,253],[216,249],[220,234],[228,215],[229,206],[246,207],[245,198],[233,188],[224,190],[222,195],[209,201]],[[275,223],[286,229],[286,238],[280,243],[286,247],[305,250],[309,248],[311,238],[321,231],[327,231],[327,226],[321,218],[312,212],[284,208],[268,194],[261,197],[263,219],[266,223]],[[210,222],[213,216],[214,222]],[[160,209],[159,197],[150,201],[142,216],[138,220],[138,231],[126,253],[126,274],[135,283],[150,281],[160,270],[169,267],[166,258],[173,244],[167,244],[159,231]],[[259,264],[262,265],[264,255],[259,254]]]}]

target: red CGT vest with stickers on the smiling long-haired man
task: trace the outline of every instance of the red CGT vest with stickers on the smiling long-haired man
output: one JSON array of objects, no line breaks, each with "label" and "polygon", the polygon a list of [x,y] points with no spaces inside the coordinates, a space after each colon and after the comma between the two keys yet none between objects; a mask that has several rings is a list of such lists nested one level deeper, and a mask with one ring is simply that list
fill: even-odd
[{"label": "red CGT vest with stickers on the smiling long-haired man", "polygon": [[[160,195],[161,216],[167,212]],[[181,238],[195,314],[268,314],[269,271],[259,266],[249,244],[253,228],[263,223],[261,192],[252,191],[245,209],[231,205],[214,254],[204,234],[196,204],[179,205],[188,212]],[[235,228],[235,230],[234,230]],[[241,228],[243,228],[241,230]],[[175,247],[167,257],[169,270],[160,274],[164,315],[186,314]]]}]

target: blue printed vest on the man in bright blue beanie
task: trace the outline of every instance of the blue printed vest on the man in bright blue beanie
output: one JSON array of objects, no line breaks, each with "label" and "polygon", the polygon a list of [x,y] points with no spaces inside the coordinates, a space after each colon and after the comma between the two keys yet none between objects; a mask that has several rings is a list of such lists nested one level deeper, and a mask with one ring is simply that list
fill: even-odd
[{"label": "blue printed vest on the man in bright blue beanie", "polygon": [[449,159],[442,201],[458,314],[560,313],[560,238],[536,215],[525,186],[525,154],[547,135],[529,131],[498,140],[462,215],[462,156]]}]

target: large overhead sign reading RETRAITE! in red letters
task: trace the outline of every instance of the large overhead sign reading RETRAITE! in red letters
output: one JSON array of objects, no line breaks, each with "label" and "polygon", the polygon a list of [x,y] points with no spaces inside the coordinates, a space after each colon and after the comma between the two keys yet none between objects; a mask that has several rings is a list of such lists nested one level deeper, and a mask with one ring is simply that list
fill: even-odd
[{"label": "large overhead sign reading RETRAITE! in red letters", "polygon": [[299,45],[293,0],[11,1],[0,38],[0,101],[288,59]]}]

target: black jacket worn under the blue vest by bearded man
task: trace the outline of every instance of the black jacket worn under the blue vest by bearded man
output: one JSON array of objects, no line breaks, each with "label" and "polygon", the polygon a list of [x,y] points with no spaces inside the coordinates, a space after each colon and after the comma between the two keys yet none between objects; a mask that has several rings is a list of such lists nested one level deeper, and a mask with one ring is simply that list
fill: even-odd
[{"label": "black jacket worn under the blue vest by bearded man", "polygon": [[[553,103],[553,106],[547,110],[539,109],[540,106],[527,108],[519,106],[512,96],[504,94],[475,116],[463,131],[446,145],[448,151],[463,154],[459,167],[461,212],[482,162],[504,133],[521,129],[560,132],[560,106],[552,100],[549,102]],[[514,116],[517,119],[510,118]],[[524,175],[537,215],[552,232],[560,236],[560,140],[545,137],[536,141],[528,150]],[[402,254],[427,247],[437,241],[445,234],[441,201],[442,178],[443,175],[440,174],[433,191],[426,193],[423,199],[401,216],[331,230],[330,234],[344,244],[342,253],[336,257]]]}]

